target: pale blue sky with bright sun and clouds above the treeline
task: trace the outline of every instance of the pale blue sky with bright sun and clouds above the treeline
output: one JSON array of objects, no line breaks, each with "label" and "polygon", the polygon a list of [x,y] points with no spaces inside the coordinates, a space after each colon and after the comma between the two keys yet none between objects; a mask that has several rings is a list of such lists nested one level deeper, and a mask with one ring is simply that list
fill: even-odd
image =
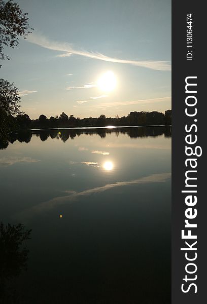
[{"label": "pale blue sky with bright sun and clouds above the treeline", "polygon": [[34,31],[0,73],[31,119],[171,108],[171,0],[15,2]]}]

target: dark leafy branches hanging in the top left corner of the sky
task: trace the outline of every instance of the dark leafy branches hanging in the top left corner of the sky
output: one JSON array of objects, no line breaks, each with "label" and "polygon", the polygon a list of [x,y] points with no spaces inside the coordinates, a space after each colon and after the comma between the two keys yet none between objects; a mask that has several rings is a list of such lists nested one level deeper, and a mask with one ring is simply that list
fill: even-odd
[{"label": "dark leafy branches hanging in the top left corner of the sky", "polygon": [[[0,0],[0,61],[9,59],[4,54],[4,47],[15,48],[19,44],[19,36],[26,36],[33,28],[28,24],[28,13],[23,13],[18,3]],[[1,64],[0,64],[1,67]]]}]

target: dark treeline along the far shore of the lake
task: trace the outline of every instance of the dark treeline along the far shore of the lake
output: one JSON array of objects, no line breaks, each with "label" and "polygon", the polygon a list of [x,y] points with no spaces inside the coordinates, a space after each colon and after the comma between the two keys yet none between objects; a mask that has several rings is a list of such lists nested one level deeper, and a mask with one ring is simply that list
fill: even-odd
[{"label": "dark treeline along the far shore of the lake", "polygon": [[47,128],[74,128],[74,127],[105,127],[105,126],[149,126],[149,125],[171,125],[171,110],[165,113],[152,112],[130,112],[128,116],[106,118],[100,115],[98,118],[69,117],[62,112],[60,116],[50,117],[40,115],[36,120],[31,120],[27,114],[18,115],[13,118],[16,129],[47,129]]}]

